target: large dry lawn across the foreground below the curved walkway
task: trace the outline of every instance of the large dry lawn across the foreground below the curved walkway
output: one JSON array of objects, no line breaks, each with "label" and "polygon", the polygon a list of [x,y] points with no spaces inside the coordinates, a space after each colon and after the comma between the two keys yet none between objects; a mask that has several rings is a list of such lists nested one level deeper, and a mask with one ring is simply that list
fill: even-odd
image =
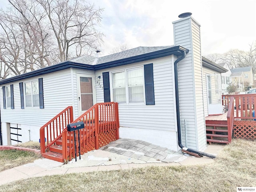
[{"label": "large dry lawn across the foreground below the curved walkway", "polygon": [[233,192],[237,186],[256,186],[255,178],[256,142],[233,140],[213,164],[29,178],[2,185],[0,192]]}]

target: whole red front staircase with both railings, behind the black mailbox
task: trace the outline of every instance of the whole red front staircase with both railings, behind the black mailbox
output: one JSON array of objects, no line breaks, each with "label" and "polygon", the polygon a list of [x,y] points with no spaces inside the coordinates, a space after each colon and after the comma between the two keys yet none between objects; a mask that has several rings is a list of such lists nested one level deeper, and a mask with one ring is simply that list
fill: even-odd
[{"label": "whole red front staircase with both railings, behind the black mailbox", "polygon": [[67,131],[67,125],[84,122],[80,129],[80,152],[98,149],[119,138],[118,104],[114,102],[95,104],[87,112],[73,121],[72,107],[68,107],[40,128],[41,154],[44,158],[58,162],[66,162],[79,155],[78,130],[76,142],[74,132]]}]

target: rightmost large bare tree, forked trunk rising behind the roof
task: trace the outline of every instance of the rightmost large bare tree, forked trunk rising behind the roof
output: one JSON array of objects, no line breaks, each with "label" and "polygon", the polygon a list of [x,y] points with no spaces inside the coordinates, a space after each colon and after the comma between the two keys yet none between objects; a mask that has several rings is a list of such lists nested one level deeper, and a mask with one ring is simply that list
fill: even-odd
[{"label": "rightmost large bare tree, forked trunk rising behind the roof", "polygon": [[[58,44],[60,61],[96,49],[103,34],[95,28],[102,9],[84,4],[84,0],[36,0],[44,9]],[[71,49],[71,50],[70,50]]]}]

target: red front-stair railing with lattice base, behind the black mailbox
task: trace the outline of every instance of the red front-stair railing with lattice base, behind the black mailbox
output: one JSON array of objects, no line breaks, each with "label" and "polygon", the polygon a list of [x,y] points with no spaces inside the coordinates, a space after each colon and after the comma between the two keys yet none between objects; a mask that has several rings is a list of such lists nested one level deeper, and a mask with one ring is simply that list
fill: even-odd
[{"label": "red front-stair railing with lattice base, behind the black mailbox", "polygon": [[[83,151],[86,151],[94,146],[95,149],[98,149],[119,138],[118,103],[95,104],[72,123],[75,122],[84,122],[84,128],[80,130],[80,149],[82,148]],[[78,135],[77,131],[76,135]],[[71,160],[75,146],[74,142],[67,144],[67,140],[74,140],[74,135],[65,129],[62,134],[62,155],[64,160],[67,160],[68,156]],[[69,151],[69,154],[66,147],[64,147],[65,145],[73,149]],[[78,145],[76,146],[76,151],[78,151]]]}]

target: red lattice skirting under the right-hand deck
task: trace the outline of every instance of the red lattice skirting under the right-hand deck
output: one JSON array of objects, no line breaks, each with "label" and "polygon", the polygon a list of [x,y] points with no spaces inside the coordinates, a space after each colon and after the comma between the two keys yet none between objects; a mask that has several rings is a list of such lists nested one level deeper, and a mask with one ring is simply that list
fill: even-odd
[{"label": "red lattice skirting under the right-hand deck", "polygon": [[234,120],[234,138],[256,139],[256,121]]}]

